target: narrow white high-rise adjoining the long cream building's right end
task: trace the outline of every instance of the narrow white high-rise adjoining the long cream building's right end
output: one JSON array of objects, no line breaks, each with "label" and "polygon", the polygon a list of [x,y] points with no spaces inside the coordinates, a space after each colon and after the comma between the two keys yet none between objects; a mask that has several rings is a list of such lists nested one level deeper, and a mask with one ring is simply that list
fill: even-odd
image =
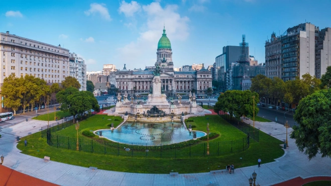
[{"label": "narrow white high-rise adjoining the long cream building's right end", "polygon": [[86,91],[86,65],[83,58],[78,57],[75,53],[69,53],[69,68],[71,77],[77,79],[80,84],[80,91]]}]

